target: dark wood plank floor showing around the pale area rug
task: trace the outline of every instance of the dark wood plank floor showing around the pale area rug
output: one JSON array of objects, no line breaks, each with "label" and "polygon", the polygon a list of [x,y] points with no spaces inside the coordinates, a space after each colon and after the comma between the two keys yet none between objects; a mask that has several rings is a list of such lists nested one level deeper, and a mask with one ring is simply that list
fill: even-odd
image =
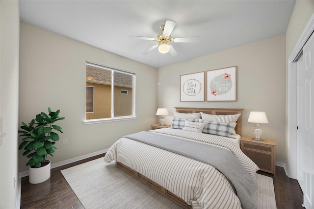
[{"label": "dark wood plank floor showing around the pale area rug", "polygon": [[[53,168],[51,178],[41,184],[28,183],[28,176],[22,178],[21,209],[83,209],[60,170],[80,163],[103,157],[98,155],[76,163]],[[273,177],[272,174],[258,172]],[[303,193],[298,182],[286,176],[283,167],[276,166],[276,178],[273,178],[276,204],[278,209],[304,209]]]}]

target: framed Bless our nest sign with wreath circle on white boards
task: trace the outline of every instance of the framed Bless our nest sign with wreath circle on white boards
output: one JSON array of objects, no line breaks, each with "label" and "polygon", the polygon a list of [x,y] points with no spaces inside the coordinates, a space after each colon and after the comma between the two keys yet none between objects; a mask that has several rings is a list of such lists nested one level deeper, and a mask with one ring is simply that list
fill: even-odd
[{"label": "framed Bless our nest sign with wreath circle on white boards", "polygon": [[205,101],[205,72],[180,76],[180,101]]}]

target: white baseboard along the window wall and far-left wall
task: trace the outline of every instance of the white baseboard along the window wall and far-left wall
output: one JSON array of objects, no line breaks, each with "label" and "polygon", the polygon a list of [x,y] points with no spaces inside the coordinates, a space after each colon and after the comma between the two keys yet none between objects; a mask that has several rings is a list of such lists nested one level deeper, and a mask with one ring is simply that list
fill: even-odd
[{"label": "white baseboard along the window wall and far-left wall", "polygon": [[[109,148],[108,148],[109,149]],[[81,160],[84,160],[86,158],[91,158],[91,157],[94,157],[96,155],[101,155],[101,154],[104,154],[108,151],[108,149],[103,149],[103,150],[100,150],[100,151],[97,151],[97,152],[93,152],[93,153],[89,153],[89,154],[86,154],[86,155],[82,155],[82,156],[78,156],[76,158],[71,158],[69,160],[65,160],[65,161],[61,161],[61,162],[58,162],[58,163],[52,163],[51,164],[51,168],[56,168],[56,167],[59,167],[59,166],[62,166],[62,165],[66,165],[66,164],[70,164],[70,163],[75,163],[77,161],[81,161]],[[17,191],[17,198],[16,198],[16,209],[20,209],[21,208],[21,191],[22,191],[22,178],[25,177],[25,176],[28,176],[29,175],[29,171],[23,171],[23,172],[20,172],[19,173],[19,180],[18,180],[18,191]]]}]

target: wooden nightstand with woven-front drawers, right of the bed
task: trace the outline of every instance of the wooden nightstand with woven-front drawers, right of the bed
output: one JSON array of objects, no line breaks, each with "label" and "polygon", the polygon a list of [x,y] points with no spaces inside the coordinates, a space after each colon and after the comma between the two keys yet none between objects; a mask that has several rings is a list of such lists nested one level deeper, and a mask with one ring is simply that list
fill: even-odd
[{"label": "wooden nightstand with woven-front drawers, right of the bed", "polygon": [[253,137],[241,137],[240,147],[242,152],[256,163],[262,171],[276,176],[276,141],[273,139],[263,139],[256,141]]}]

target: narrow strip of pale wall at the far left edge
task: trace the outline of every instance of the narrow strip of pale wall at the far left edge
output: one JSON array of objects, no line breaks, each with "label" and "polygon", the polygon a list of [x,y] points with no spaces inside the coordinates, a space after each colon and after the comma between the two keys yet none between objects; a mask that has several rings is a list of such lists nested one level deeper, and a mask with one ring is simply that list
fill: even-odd
[{"label": "narrow strip of pale wall at the far left edge", "polygon": [[0,208],[19,208],[18,110],[19,110],[19,1],[0,1]]}]

